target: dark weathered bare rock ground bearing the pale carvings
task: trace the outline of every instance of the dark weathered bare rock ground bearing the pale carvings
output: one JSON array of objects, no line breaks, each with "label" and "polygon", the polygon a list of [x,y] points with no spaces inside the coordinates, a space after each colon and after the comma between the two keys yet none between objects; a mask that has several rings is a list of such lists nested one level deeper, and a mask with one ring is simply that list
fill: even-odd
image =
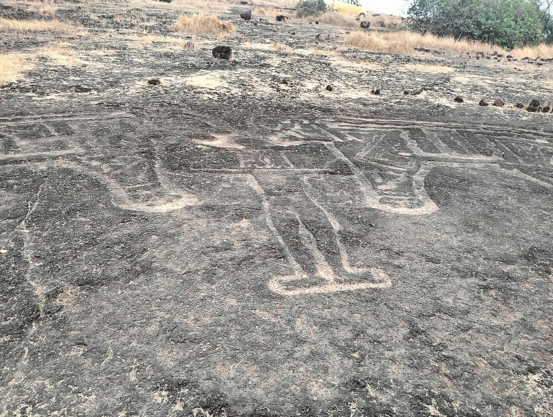
[{"label": "dark weathered bare rock ground bearing the pale carvings", "polygon": [[153,1],[2,36],[0,415],[553,415],[553,115],[512,106],[552,63],[241,10],[194,50]]}]

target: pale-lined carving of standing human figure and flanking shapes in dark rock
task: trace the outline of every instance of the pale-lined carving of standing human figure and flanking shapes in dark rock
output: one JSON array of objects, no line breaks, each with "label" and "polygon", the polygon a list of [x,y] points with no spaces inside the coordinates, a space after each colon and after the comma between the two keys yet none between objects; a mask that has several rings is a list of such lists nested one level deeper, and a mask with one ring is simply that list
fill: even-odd
[{"label": "pale-lined carving of standing human figure and flanking shapes in dark rock", "polygon": [[[432,214],[438,206],[429,198],[424,179],[434,167],[500,169],[553,187],[547,172],[534,173],[536,167],[546,169],[553,158],[552,146],[543,138],[529,149],[532,163],[538,163],[532,165],[534,172],[527,172],[528,151],[521,151],[518,138],[478,138],[482,143],[477,143],[433,124],[283,121],[254,146],[223,132],[187,140],[131,138],[124,132],[135,133],[136,126],[122,124],[123,133],[106,138],[85,126],[98,136],[85,143],[48,137],[55,129],[46,123],[46,129],[35,129],[45,132],[44,149],[32,148],[32,141],[12,131],[10,147],[16,145],[16,150],[1,156],[0,163],[73,169],[101,180],[117,207],[158,214],[202,203],[182,176],[243,176],[259,196],[268,228],[287,260],[288,272],[268,283],[281,295],[390,286],[390,277],[370,259],[362,265],[350,260],[350,248],[341,239],[347,226],[340,221],[340,207]],[[65,145],[56,148],[55,140]],[[109,156],[104,155],[106,148]]]}]

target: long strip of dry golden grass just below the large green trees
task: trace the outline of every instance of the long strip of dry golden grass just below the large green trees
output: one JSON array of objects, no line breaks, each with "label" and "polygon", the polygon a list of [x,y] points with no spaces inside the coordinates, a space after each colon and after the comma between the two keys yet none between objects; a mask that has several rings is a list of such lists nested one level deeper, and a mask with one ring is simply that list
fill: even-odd
[{"label": "long strip of dry golden grass just below the large green trees", "polygon": [[482,44],[482,42],[456,41],[453,38],[440,38],[433,35],[401,32],[356,32],[346,37],[345,42],[354,48],[373,50],[375,52],[415,53],[414,48],[429,48],[449,50],[458,53],[492,53],[494,50],[506,53],[496,46]]}]

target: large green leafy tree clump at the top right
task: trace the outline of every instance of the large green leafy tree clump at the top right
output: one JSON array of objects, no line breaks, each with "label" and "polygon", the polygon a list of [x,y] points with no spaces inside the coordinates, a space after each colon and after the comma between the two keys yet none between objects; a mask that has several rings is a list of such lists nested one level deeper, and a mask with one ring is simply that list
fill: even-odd
[{"label": "large green leafy tree clump at the top right", "polygon": [[553,0],[413,0],[406,25],[422,34],[512,49],[553,41],[552,5]]}]

